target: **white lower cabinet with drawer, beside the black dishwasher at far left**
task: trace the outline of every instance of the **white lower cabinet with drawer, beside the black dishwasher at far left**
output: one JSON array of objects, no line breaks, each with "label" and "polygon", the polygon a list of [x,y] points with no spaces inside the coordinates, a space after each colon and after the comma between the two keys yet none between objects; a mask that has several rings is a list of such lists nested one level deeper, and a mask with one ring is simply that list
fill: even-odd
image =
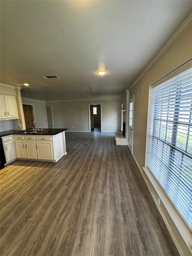
[{"label": "white lower cabinet with drawer, beside the black dishwasher at far left", "polygon": [[10,162],[12,162],[16,159],[15,149],[14,149],[14,144],[13,144],[13,136],[9,135],[8,137],[2,137],[2,141],[3,141],[3,148],[4,148],[6,164],[9,164]]}]

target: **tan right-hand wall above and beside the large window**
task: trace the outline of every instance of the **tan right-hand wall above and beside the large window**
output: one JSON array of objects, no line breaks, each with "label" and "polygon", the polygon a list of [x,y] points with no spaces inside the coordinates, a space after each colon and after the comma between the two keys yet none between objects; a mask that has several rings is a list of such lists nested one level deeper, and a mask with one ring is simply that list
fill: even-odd
[{"label": "tan right-hand wall above and beside the large window", "polygon": [[129,92],[134,95],[133,155],[140,168],[145,166],[145,147],[149,85],[192,56],[192,25],[152,66],[142,79]]}]

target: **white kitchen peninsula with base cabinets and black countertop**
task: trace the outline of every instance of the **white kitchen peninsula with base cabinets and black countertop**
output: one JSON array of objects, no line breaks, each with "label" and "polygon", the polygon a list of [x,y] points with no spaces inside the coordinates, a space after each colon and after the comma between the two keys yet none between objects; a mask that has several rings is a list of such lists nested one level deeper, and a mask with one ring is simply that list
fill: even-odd
[{"label": "white kitchen peninsula with base cabinets and black countertop", "polygon": [[[63,155],[67,154],[66,130],[64,128],[43,128],[42,130],[28,129],[1,132],[6,164],[15,159],[57,162]],[[14,144],[12,148],[10,141]],[[10,155],[7,151],[10,152]]]}]

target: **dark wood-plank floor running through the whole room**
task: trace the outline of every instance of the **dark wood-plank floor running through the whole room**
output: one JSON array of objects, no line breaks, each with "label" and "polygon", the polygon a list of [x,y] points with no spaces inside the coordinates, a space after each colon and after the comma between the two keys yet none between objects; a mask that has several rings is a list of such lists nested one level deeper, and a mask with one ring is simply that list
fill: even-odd
[{"label": "dark wood-plank floor running through the whole room", "polygon": [[1,256],[179,256],[127,146],[66,132],[57,163],[1,170]]}]

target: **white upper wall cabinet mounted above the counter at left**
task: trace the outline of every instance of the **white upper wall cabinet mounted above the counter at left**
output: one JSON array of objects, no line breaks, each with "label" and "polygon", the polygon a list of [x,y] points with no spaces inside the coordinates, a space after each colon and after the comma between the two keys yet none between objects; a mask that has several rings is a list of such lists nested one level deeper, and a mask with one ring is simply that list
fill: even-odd
[{"label": "white upper wall cabinet mounted above the counter at left", "polygon": [[18,119],[15,96],[0,95],[0,119]]}]

